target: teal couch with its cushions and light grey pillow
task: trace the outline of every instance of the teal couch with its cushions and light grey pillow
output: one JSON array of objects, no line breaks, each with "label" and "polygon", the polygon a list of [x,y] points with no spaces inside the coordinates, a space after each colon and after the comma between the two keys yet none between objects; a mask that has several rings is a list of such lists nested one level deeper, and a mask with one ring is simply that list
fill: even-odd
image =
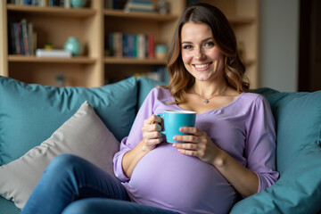
[{"label": "teal couch with its cushions and light grey pillow", "polygon": [[[0,77],[0,213],[16,214],[45,166],[63,152],[112,173],[112,155],[153,86],[127,78],[95,87],[25,84]],[[259,88],[276,119],[275,185],[237,202],[231,213],[318,213],[321,210],[321,91]]]}]

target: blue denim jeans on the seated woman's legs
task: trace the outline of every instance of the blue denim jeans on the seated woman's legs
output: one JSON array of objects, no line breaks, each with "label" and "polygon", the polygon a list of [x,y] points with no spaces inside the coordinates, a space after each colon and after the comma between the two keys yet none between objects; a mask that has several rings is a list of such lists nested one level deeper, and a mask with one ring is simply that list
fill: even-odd
[{"label": "blue denim jeans on the seated woman's legs", "polygon": [[21,213],[176,212],[130,202],[126,188],[119,180],[89,161],[75,155],[62,154],[54,158],[45,169]]}]

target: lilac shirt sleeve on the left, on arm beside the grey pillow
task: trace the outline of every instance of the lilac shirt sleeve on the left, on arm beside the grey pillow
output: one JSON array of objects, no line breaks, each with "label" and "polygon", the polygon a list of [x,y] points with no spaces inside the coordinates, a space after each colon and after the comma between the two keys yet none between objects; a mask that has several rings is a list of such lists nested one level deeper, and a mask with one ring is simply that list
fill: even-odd
[{"label": "lilac shirt sleeve on the left, on arm beside the grey pillow", "polygon": [[143,140],[142,127],[144,125],[144,119],[147,119],[153,114],[153,106],[155,102],[155,89],[146,96],[144,103],[137,112],[136,119],[130,129],[129,135],[126,136],[120,142],[119,152],[115,153],[113,157],[113,167],[115,176],[119,178],[120,181],[128,182],[129,178],[125,176],[122,169],[122,159],[124,154],[136,147]]}]

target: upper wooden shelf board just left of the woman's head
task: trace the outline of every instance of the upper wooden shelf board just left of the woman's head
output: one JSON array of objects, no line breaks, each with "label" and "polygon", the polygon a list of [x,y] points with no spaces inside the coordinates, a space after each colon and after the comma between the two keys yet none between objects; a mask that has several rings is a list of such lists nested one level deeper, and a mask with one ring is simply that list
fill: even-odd
[{"label": "upper wooden shelf board just left of the woman's head", "polygon": [[147,12],[123,12],[122,10],[104,10],[105,17],[115,17],[124,19],[146,19],[152,21],[175,21],[177,15],[161,15],[158,13]]}]

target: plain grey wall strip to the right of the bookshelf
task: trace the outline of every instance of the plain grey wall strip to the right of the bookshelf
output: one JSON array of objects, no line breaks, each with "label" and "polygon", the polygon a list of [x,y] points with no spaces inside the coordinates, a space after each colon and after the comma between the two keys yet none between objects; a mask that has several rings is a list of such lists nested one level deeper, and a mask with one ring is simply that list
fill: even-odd
[{"label": "plain grey wall strip to the right of the bookshelf", "polygon": [[300,0],[259,1],[259,86],[298,90]]}]

